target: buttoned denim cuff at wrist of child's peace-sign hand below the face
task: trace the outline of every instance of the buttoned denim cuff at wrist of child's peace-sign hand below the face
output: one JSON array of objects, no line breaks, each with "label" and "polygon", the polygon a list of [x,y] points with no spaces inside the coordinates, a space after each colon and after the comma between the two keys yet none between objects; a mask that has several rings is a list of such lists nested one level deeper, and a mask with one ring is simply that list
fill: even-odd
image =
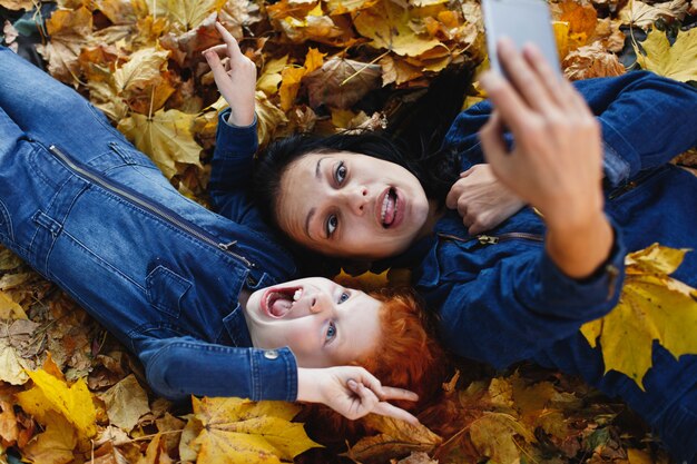
[{"label": "buttoned denim cuff at wrist of child's peace-sign hand below the face", "polygon": [[297,364],[289,348],[254,349],[251,362],[252,399],[297,398]]}]

